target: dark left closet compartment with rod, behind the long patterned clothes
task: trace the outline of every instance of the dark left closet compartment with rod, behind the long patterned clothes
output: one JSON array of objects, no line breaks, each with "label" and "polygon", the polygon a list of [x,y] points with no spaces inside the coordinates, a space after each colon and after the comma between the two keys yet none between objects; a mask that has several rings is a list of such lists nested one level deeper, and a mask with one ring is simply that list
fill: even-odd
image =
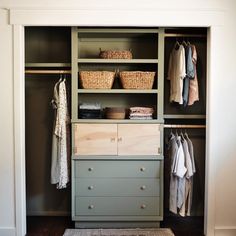
[{"label": "dark left closet compartment with rod, behind the long patterned clothes", "polygon": [[55,84],[65,80],[70,114],[71,28],[25,27],[25,63],[27,235],[62,235],[72,227],[71,186],[51,184],[52,100]]}]

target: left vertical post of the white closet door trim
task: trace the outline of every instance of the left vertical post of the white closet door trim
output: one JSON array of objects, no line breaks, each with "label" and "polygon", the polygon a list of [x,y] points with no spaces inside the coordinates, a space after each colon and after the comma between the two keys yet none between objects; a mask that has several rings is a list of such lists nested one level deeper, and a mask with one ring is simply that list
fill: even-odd
[{"label": "left vertical post of the white closet door trim", "polygon": [[26,234],[24,27],[13,26],[16,236]]}]

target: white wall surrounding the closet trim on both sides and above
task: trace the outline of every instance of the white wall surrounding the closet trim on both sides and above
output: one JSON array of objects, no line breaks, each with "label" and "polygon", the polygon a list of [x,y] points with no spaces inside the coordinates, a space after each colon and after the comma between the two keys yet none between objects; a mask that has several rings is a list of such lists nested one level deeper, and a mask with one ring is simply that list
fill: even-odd
[{"label": "white wall surrounding the closet trim on both sides and above", "polygon": [[[56,6],[56,7],[55,7]],[[36,8],[36,9],[163,9],[173,10],[173,19],[176,12],[194,9],[225,11],[223,27],[220,27],[219,38],[214,39],[216,47],[214,53],[219,60],[217,71],[221,76],[214,83],[212,103],[212,123],[214,137],[210,137],[216,173],[215,195],[215,229],[216,235],[236,235],[236,101],[235,98],[235,55],[236,55],[236,1],[234,0],[180,0],[180,1],[135,1],[130,0],[1,0],[0,8]],[[207,15],[205,20],[207,20]],[[12,28],[7,25],[5,11],[0,11],[0,236],[14,235],[14,153],[13,153],[13,78],[12,78]],[[129,25],[131,19],[122,18],[121,22]],[[155,19],[146,19],[150,22]],[[164,19],[165,20],[165,19]],[[195,19],[196,22],[204,19]],[[193,20],[191,20],[192,22]],[[109,23],[109,19],[107,20]],[[186,24],[188,19],[186,18]],[[221,42],[221,41],[222,42]],[[220,55],[220,57],[218,57]],[[213,84],[214,83],[214,84]],[[6,228],[3,231],[3,228]],[[7,230],[9,229],[9,230]]]}]

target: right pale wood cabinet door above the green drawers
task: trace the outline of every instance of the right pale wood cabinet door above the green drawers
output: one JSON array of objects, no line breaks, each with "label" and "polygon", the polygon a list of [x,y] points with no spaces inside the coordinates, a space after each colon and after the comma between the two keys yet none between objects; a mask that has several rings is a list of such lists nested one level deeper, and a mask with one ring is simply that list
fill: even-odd
[{"label": "right pale wood cabinet door above the green drawers", "polygon": [[119,124],[118,155],[159,155],[159,124]]}]

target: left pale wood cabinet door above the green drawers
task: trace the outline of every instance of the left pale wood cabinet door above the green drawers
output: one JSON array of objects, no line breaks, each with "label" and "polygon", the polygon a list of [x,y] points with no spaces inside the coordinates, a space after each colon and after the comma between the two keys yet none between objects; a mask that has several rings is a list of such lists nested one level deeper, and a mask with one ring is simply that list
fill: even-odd
[{"label": "left pale wood cabinet door above the green drawers", "polygon": [[116,124],[76,124],[74,155],[117,155]]}]

